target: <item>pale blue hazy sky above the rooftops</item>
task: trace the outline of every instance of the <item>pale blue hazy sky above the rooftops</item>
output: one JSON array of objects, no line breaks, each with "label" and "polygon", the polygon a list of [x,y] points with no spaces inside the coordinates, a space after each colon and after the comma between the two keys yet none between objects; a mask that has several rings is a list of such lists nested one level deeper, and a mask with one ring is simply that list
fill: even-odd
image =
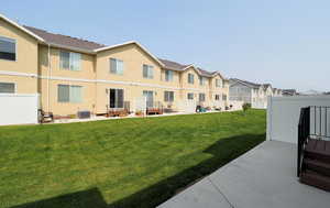
[{"label": "pale blue hazy sky above the rooftops", "polygon": [[0,13],[278,88],[330,91],[328,0],[3,1]]}]

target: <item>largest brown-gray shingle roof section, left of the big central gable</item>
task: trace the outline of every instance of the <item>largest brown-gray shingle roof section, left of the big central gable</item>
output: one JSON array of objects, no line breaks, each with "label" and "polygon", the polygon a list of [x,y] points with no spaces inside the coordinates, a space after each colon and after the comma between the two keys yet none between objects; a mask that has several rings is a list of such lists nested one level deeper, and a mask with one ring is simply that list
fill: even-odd
[{"label": "largest brown-gray shingle roof section, left of the big central gable", "polygon": [[42,39],[44,39],[48,43],[54,43],[54,44],[69,46],[69,47],[77,47],[77,48],[80,48],[80,50],[89,50],[89,51],[106,46],[106,45],[95,43],[95,42],[90,42],[90,41],[86,41],[86,40],[82,40],[82,39],[77,39],[77,37],[66,36],[66,35],[62,35],[62,34],[50,33],[47,31],[36,29],[36,28],[32,28],[32,26],[25,26],[25,25],[23,25],[23,26],[26,30],[31,31],[32,33],[41,36]]}]

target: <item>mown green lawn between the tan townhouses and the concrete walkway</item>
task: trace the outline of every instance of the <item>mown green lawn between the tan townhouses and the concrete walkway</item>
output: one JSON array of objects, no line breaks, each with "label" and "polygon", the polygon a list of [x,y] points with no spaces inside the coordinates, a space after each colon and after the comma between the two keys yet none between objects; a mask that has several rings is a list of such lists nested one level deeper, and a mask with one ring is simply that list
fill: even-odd
[{"label": "mown green lawn between the tan townhouses and the concrete walkway", "polygon": [[0,207],[155,207],[265,140],[264,110],[0,128]]}]

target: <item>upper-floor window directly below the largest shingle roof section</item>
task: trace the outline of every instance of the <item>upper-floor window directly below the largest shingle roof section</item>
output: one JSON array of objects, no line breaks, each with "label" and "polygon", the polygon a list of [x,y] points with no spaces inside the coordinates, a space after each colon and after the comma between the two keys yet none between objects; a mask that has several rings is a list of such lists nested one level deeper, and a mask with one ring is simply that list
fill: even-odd
[{"label": "upper-floor window directly below the largest shingle roof section", "polygon": [[73,52],[59,52],[59,68],[65,70],[80,70],[81,55]]}]

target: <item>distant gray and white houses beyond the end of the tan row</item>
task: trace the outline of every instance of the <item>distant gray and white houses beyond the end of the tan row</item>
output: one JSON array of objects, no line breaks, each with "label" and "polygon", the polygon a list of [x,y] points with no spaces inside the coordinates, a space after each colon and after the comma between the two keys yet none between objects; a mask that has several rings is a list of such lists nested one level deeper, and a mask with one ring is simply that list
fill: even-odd
[{"label": "distant gray and white houses beyond the end of the tan row", "polygon": [[229,100],[251,103],[252,108],[267,108],[268,96],[282,96],[271,84],[255,84],[238,78],[229,80]]}]

